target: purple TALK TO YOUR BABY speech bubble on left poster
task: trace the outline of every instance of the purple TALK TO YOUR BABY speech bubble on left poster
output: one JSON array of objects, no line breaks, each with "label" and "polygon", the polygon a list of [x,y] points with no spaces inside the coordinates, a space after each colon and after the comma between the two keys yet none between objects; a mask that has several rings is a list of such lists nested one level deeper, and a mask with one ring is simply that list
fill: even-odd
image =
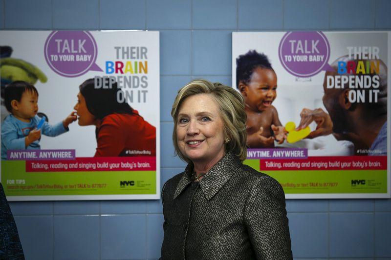
[{"label": "purple TALK TO YOUR BABY speech bubble on left poster", "polygon": [[45,41],[45,60],[57,74],[78,77],[96,67],[96,42],[86,31],[54,31]]}]

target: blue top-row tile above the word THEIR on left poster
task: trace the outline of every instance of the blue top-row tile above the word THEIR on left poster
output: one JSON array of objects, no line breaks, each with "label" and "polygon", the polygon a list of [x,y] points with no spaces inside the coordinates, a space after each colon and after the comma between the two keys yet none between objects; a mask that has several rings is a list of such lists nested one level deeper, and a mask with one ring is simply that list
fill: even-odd
[{"label": "blue top-row tile above the word THEIR on left poster", "polygon": [[139,0],[100,0],[100,29],[145,29],[145,4]]}]

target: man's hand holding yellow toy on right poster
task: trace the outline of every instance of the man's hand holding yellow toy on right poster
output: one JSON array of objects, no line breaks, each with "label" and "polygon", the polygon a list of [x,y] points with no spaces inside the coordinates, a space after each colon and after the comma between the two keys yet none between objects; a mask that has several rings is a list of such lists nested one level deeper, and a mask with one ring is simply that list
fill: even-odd
[{"label": "man's hand holding yellow toy on right poster", "polygon": [[307,138],[326,136],[333,133],[333,122],[331,121],[330,116],[321,108],[314,110],[304,108],[300,113],[300,117],[302,119],[296,130],[307,127],[313,121],[316,123],[316,129],[309,133]]}]

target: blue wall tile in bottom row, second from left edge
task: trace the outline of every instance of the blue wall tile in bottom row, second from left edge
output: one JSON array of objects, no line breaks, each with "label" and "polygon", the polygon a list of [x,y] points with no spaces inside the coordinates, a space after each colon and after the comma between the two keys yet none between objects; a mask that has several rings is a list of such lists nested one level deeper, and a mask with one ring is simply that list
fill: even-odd
[{"label": "blue wall tile in bottom row, second from left edge", "polygon": [[99,259],[99,216],[54,216],[54,259]]}]

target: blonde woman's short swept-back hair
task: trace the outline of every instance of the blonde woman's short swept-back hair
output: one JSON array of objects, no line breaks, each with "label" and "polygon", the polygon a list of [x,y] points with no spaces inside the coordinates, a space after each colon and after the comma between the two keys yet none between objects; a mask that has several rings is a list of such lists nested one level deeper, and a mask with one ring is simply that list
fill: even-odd
[{"label": "blonde woman's short swept-back hair", "polygon": [[182,160],[190,162],[190,160],[179,150],[178,141],[176,139],[177,116],[182,102],[186,98],[197,94],[209,94],[216,101],[224,124],[224,134],[230,140],[225,145],[226,152],[232,152],[237,155],[240,160],[245,160],[247,157],[247,114],[244,111],[243,97],[232,87],[202,79],[192,80],[179,89],[174,100],[171,116],[174,120],[173,142],[176,154]]}]

